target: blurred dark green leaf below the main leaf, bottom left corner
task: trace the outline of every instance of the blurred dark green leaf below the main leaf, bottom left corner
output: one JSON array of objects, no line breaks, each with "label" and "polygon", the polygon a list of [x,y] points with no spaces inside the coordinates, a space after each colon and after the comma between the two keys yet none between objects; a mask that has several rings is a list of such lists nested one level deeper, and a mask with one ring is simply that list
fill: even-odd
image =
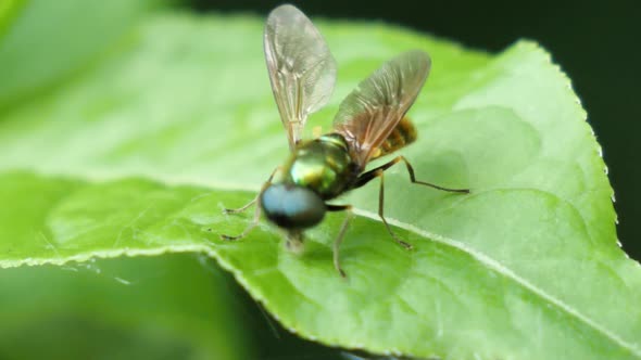
[{"label": "blurred dark green leaf below the main leaf, bottom left corner", "polygon": [[0,358],[252,359],[219,271],[187,255],[4,269]]}]

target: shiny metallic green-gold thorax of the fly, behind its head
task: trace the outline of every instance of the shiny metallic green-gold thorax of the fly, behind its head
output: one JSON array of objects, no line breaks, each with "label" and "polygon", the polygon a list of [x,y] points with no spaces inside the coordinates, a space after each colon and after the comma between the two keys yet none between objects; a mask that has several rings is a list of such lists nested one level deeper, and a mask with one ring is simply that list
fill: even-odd
[{"label": "shiny metallic green-gold thorax of the fly, behind its head", "polygon": [[284,168],[284,183],[305,187],[323,200],[349,190],[357,176],[344,138],[338,133],[301,143]]}]

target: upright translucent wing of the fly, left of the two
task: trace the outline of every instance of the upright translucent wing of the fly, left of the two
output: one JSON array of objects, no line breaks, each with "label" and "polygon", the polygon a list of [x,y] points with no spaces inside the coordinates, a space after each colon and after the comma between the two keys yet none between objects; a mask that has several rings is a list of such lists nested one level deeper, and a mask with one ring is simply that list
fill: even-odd
[{"label": "upright translucent wing of the fly, left of the two", "polygon": [[336,61],[318,29],[292,5],[272,11],[264,47],[274,99],[293,151],[307,116],[323,107],[334,91]]}]

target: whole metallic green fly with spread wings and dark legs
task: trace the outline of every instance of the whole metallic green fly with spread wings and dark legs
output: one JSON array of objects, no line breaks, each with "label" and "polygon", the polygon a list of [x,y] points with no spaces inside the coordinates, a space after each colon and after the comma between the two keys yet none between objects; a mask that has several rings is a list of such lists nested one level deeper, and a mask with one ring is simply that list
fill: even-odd
[{"label": "whole metallic green fly with spread wings and dark legs", "polygon": [[[347,191],[380,178],[378,214],[394,241],[398,239],[384,216],[384,171],[404,162],[413,183],[467,193],[467,189],[448,189],[417,181],[410,163],[398,156],[365,171],[367,164],[412,143],[416,129],[405,118],[427,78],[428,55],[418,50],[405,52],[384,64],[362,81],[341,103],[332,132],[314,140],[302,140],[307,116],[324,106],[334,90],[336,62],[325,40],[310,20],[292,5],[281,5],[269,14],[264,36],[265,59],[272,90],[280,118],[287,129],[290,157],[263,184],[259,195],[239,209],[257,203],[253,222],[238,236],[244,236],[259,222],[261,213],[287,233],[291,249],[302,246],[303,231],[318,224],[326,211],[348,211],[334,243],[334,263],[341,275],[339,246],[351,218],[350,205],[331,205]],[[273,181],[277,171],[280,176]]]}]

